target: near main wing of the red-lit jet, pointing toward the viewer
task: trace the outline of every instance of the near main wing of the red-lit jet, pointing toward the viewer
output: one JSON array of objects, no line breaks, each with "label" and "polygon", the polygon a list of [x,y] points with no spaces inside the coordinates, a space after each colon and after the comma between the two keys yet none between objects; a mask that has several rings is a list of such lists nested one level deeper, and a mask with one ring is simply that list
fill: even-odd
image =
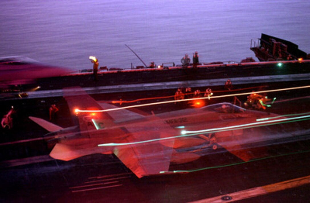
[{"label": "near main wing of the red-lit jet, pointing toward the viewer", "polygon": [[153,118],[150,122],[122,127],[128,136],[113,149],[119,160],[139,178],[168,171],[170,166],[176,132]]}]

